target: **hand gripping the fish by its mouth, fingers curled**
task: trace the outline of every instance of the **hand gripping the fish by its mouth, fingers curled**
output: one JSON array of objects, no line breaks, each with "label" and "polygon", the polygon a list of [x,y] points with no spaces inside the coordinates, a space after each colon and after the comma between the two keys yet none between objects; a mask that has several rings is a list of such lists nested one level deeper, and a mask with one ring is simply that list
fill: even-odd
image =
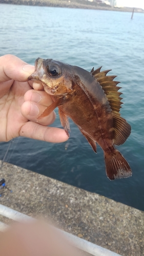
[{"label": "hand gripping the fish by its mouth, fingers curled", "polygon": [[24,136],[48,142],[68,139],[65,131],[48,127],[55,120],[55,112],[38,120],[51,105],[52,98],[43,86],[28,81],[34,67],[13,55],[0,57],[0,141]]}]

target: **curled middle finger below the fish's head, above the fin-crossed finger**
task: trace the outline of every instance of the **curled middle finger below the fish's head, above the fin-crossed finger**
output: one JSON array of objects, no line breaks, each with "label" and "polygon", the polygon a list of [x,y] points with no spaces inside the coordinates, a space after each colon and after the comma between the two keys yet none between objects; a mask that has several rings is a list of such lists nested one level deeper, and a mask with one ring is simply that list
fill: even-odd
[{"label": "curled middle finger below the fish's head, above the fin-crossed finger", "polygon": [[25,101],[33,101],[45,106],[50,106],[53,100],[45,91],[28,90],[24,95]]}]

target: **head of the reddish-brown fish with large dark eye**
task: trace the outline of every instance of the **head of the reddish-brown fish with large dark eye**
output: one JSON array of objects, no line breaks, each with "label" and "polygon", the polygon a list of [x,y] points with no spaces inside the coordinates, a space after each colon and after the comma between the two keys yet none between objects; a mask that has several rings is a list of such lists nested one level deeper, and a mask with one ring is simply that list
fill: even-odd
[{"label": "head of the reddish-brown fish with large dark eye", "polygon": [[72,91],[72,66],[53,59],[37,58],[29,80],[42,82],[50,95],[64,96]]}]

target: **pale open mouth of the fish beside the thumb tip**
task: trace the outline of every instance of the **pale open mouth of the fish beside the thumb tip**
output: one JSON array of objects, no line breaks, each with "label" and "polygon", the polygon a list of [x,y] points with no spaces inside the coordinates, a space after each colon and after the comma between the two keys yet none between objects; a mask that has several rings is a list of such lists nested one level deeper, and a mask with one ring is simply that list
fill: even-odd
[{"label": "pale open mouth of the fish beside the thumb tip", "polygon": [[35,71],[28,77],[28,80],[41,80],[44,75],[42,58],[37,58],[35,60]]}]

